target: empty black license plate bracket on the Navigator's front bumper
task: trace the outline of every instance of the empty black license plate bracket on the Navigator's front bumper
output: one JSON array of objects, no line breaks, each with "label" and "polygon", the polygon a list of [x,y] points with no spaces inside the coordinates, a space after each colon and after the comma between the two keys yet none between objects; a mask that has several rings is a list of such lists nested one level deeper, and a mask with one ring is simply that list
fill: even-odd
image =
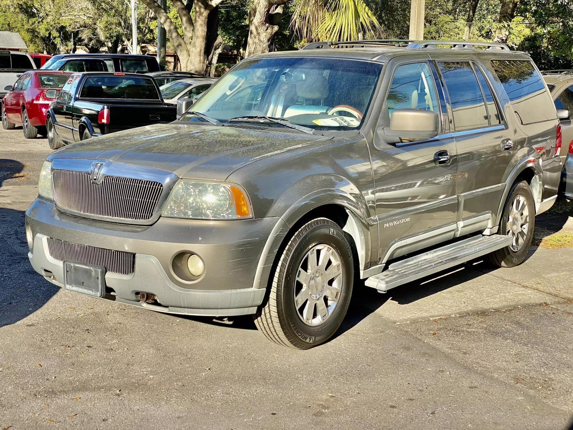
[{"label": "empty black license plate bracket on the Navigator's front bumper", "polygon": [[105,295],[105,267],[64,261],[64,286],[66,290],[103,297]]}]

